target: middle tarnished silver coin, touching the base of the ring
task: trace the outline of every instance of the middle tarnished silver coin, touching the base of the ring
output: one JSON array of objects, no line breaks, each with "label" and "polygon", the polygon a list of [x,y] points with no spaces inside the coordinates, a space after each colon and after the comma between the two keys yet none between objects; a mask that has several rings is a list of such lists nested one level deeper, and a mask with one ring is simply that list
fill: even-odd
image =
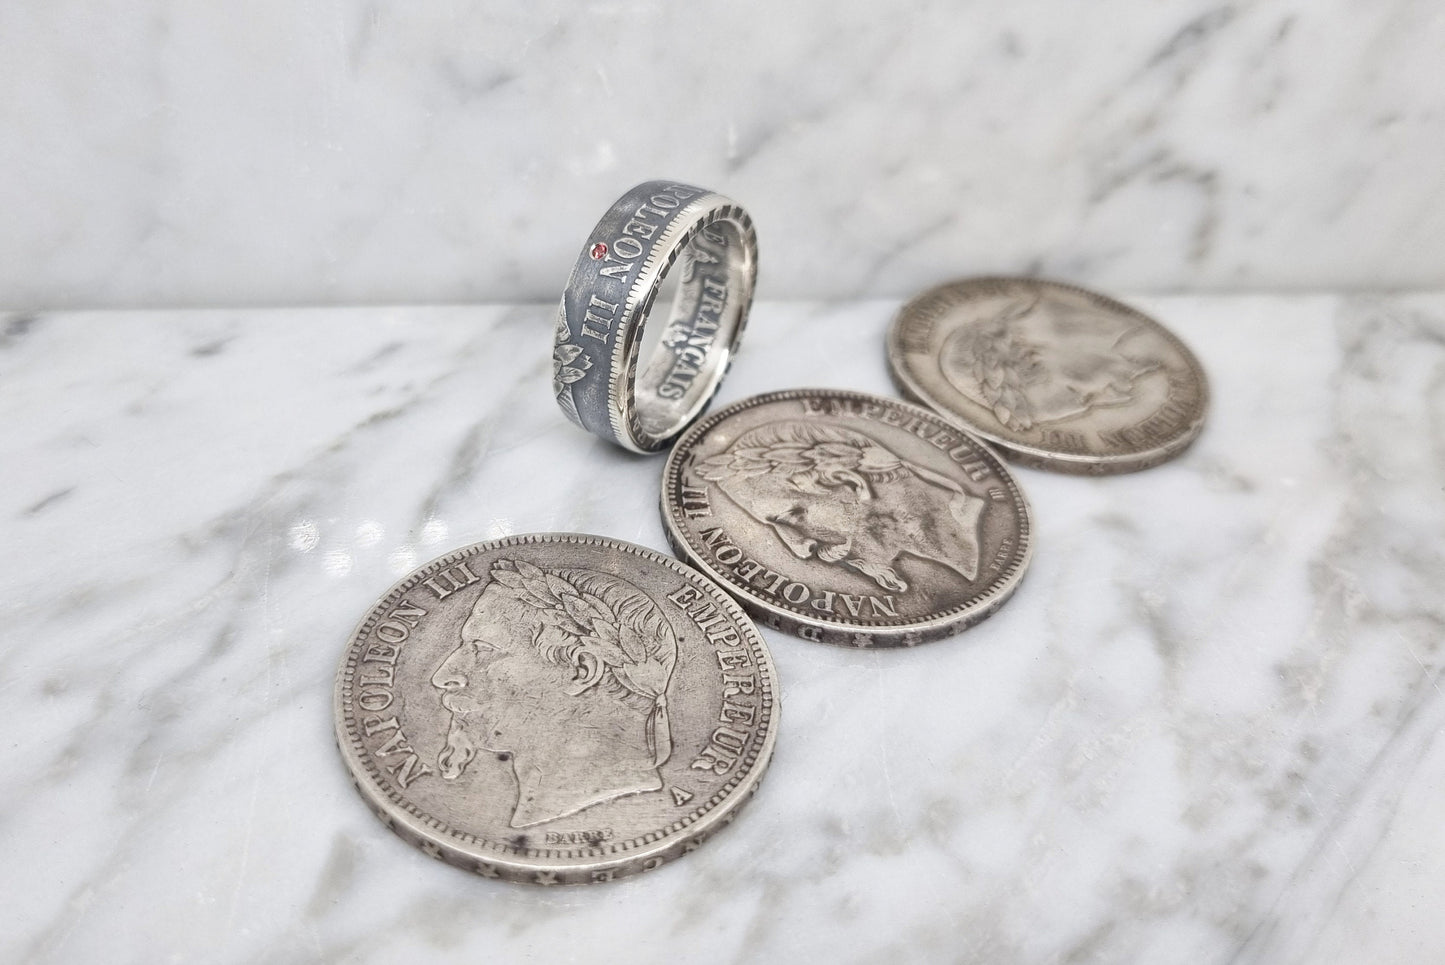
[{"label": "middle tarnished silver coin, touching the base of the ring", "polygon": [[1003,604],[1029,563],[1029,504],[987,445],[855,391],[753,396],[678,441],[662,477],[678,553],[767,626],[912,646]]}]

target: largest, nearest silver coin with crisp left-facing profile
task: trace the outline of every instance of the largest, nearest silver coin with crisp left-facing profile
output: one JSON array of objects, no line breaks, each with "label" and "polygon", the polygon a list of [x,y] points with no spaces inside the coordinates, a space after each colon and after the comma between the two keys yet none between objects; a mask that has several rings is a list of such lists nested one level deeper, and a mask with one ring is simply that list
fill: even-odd
[{"label": "largest, nearest silver coin with crisp left-facing profile", "polygon": [[548,533],[435,559],[366,615],[335,691],[354,783],[434,858],[536,884],[692,851],[773,753],[762,634],[631,543]]}]

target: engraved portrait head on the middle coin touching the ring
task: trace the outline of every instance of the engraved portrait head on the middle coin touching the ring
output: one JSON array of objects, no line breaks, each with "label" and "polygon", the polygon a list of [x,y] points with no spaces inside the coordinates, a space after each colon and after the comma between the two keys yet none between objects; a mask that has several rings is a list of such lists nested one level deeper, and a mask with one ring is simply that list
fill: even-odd
[{"label": "engraved portrait head on the middle coin touching the ring", "polygon": [[695,471],[769,526],[799,559],[818,559],[903,592],[899,561],[931,561],[972,581],[987,501],[854,429],[772,422]]}]

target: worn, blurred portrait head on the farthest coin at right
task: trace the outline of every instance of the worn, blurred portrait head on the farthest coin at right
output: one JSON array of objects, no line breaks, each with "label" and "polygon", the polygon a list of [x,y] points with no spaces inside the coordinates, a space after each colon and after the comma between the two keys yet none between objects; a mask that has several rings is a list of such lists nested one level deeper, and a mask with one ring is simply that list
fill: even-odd
[{"label": "worn, blurred portrait head on the farthest coin at right", "polygon": [[1019,298],[942,345],[939,367],[964,397],[1014,430],[1129,404],[1162,363],[1134,345],[1144,328],[1062,299]]}]

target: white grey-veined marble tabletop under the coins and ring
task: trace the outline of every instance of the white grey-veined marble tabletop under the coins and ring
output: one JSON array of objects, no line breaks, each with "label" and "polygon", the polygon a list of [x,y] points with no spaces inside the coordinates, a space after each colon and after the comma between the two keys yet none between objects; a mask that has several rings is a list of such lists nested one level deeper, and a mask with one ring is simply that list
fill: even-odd
[{"label": "white grey-veined marble tabletop under the coins and ring", "polygon": [[[1019,471],[962,636],[767,633],[743,818],[610,887],[475,878],[348,786],[331,682],[420,559],[663,548],[549,397],[551,305],[0,318],[0,961],[1418,964],[1445,948],[1445,293],[1136,299],[1179,461]],[[889,391],[894,302],[763,302],[725,399]]]}]

